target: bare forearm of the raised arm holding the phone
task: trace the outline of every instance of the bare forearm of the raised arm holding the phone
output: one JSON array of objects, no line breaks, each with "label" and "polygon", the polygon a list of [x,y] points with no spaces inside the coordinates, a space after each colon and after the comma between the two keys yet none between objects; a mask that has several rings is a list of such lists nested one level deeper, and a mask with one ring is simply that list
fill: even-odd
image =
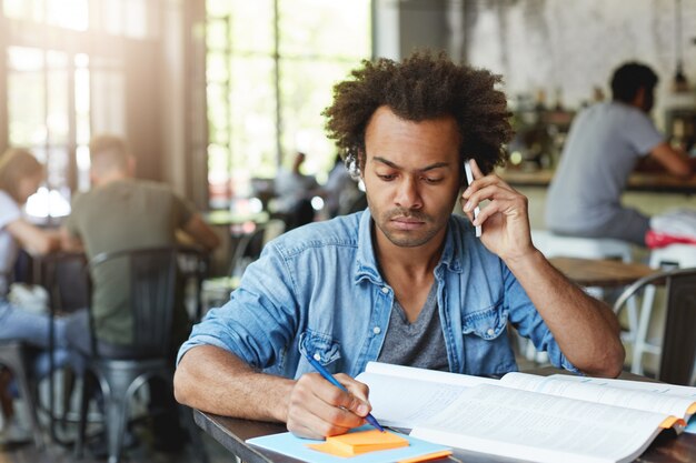
[{"label": "bare forearm of the raised arm holding the phone", "polygon": [[508,266],[575,366],[588,374],[620,373],[625,352],[609,306],[569,282],[538,251]]}]

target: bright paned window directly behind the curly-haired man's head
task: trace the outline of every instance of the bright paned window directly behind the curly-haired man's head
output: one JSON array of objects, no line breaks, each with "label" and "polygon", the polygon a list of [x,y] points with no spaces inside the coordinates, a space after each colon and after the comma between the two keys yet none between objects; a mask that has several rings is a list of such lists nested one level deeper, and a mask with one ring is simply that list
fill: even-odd
[{"label": "bright paned window directly behind the curly-haired man's head", "polygon": [[295,151],[320,179],[336,149],[321,111],[371,51],[370,0],[207,0],[210,205],[252,194]]}]

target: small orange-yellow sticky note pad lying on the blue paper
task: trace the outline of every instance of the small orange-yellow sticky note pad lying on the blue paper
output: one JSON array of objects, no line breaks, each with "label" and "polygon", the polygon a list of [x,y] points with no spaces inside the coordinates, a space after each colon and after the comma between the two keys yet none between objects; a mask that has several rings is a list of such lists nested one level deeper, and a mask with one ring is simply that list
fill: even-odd
[{"label": "small orange-yellow sticky note pad lying on the blue paper", "polygon": [[408,440],[391,433],[377,430],[360,431],[341,435],[332,435],[321,444],[310,444],[310,449],[336,456],[355,456],[378,450],[408,446]]}]

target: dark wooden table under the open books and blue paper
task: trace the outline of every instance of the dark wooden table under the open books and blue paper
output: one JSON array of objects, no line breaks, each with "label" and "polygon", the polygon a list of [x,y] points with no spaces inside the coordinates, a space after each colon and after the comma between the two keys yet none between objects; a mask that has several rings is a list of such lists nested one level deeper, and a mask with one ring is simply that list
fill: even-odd
[{"label": "dark wooden table under the open books and blue paper", "polygon": [[[553,368],[543,368],[529,371],[529,373],[550,375],[559,373]],[[625,380],[650,381],[644,376],[632,373],[622,373],[619,376]],[[264,423],[259,421],[248,421],[232,417],[218,416],[210,413],[195,411],[196,423],[205,432],[210,434],[222,446],[238,456],[245,463],[297,463],[298,460],[278,454],[265,449],[247,444],[245,441],[251,437],[277,434],[286,432],[285,425],[275,423]],[[678,437],[669,433],[660,434],[650,446],[640,455],[636,462],[640,463],[677,463],[690,462],[696,457],[696,434],[682,434]],[[438,462],[464,463],[511,463],[517,460],[504,459],[494,455],[485,455],[475,452],[456,450],[455,459],[441,459]]]}]

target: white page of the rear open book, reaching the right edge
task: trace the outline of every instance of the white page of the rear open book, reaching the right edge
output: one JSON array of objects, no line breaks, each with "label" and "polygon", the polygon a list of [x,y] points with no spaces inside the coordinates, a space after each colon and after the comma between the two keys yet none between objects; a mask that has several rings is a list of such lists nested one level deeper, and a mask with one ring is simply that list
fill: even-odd
[{"label": "white page of the rear open book, reaching the right edge", "polygon": [[[525,391],[571,397],[608,405],[659,412],[667,415],[684,417],[686,421],[694,413],[694,399],[655,393],[649,390],[614,387],[613,384],[600,384],[587,381],[567,381],[563,375],[537,376],[528,373],[508,373],[501,385]],[[573,378],[573,376],[568,376]]]}]

